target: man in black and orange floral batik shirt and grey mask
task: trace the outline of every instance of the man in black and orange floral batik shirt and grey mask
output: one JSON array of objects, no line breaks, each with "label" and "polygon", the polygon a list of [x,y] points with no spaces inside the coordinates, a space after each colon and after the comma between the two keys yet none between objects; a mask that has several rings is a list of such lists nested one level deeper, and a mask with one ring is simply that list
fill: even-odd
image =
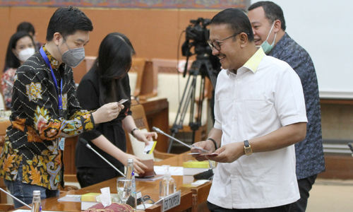
[{"label": "man in black and orange floral batik shirt and grey mask", "polygon": [[80,110],[71,67],[84,59],[92,29],[78,8],[57,9],[49,21],[47,44],[17,70],[0,175],[11,194],[27,204],[33,190],[48,198],[58,196],[64,186],[65,137],[109,122],[124,108],[112,102],[95,112]]}]

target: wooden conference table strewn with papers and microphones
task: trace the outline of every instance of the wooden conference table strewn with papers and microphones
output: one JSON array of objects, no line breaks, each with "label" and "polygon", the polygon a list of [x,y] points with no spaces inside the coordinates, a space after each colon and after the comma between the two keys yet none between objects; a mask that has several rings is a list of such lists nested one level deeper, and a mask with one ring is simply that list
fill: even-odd
[{"label": "wooden conference table strewn with papers and microphones", "polygon": [[[181,153],[172,158],[155,162],[155,165],[171,165],[182,166],[184,161],[191,160],[191,155]],[[191,187],[191,182],[194,181],[192,176],[172,176],[177,184],[177,190],[181,191],[180,205],[171,208],[169,211],[208,211],[205,202],[210,191],[211,182],[206,182],[198,187]],[[153,201],[159,199],[160,179],[156,181],[138,181],[136,180],[136,190],[142,193],[142,196],[149,195]],[[100,193],[100,189],[109,187],[112,194],[116,194],[116,178],[94,184],[83,189],[61,192],[60,197],[66,194],[86,194],[89,192]],[[25,207],[23,207],[25,209]],[[80,202],[63,202],[58,201],[58,198],[49,198],[42,200],[42,210],[45,211],[80,211]],[[161,205],[155,204],[150,208],[145,209],[146,212],[161,211]]]}]

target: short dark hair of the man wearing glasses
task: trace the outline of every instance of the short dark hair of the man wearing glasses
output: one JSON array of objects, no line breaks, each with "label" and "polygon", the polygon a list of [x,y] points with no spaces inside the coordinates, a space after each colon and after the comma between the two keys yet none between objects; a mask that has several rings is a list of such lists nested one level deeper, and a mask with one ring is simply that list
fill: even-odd
[{"label": "short dark hair of the man wearing glasses", "polygon": [[246,33],[248,40],[253,41],[253,30],[251,23],[239,8],[227,8],[217,13],[211,20],[210,24],[227,24],[236,33]]}]

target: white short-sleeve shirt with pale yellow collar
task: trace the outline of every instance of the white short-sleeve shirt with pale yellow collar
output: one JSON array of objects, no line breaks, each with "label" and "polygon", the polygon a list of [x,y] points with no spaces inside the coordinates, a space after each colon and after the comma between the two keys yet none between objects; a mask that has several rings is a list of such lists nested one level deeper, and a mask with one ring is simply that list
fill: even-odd
[{"label": "white short-sleeve shirt with pale yellow collar", "polygon": [[[243,142],[307,122],[297,73],[285,62],[253,54],[234,74],[222,70],[215,89],[215,125],[222,143]],[[294,145],[218,163],[208,201],[222,208],[268,208],[299,199]]]}]

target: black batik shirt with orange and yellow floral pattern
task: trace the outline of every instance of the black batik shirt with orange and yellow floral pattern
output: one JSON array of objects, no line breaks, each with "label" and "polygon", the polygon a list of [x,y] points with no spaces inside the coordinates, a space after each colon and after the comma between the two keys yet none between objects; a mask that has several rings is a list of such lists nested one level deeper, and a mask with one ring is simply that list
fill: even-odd
[{"label": "black batik shirt with orange and yellow floral pattern", "polygon": [[[60,64],[44,47],[56,76],[55,84],[49,66],[36,52],[17,70],[13,85],[11,126],[1,153],[0,175],[13,181],[23,167],[23,183],[47,189],[63,186],[64,165],[61,138],[76,136],[94,128],[91,112],[81,110],[76,98],[73,72]],[[62,81],[62,106],[59,95]]]}]

